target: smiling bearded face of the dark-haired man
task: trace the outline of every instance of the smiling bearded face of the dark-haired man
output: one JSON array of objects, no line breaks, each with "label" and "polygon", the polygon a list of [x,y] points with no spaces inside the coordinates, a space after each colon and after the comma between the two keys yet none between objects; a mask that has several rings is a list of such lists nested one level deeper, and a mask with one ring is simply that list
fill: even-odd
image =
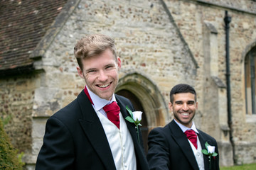
[{"label": "smiling bearded face of the dark-haired man", "polygon": [[198,103],[195,100],[195,95],[189,92],[174,94],[173,103],[169,103],[169,109],[174,112],[174,119],[188,128],[192,126],[197,108]]}]

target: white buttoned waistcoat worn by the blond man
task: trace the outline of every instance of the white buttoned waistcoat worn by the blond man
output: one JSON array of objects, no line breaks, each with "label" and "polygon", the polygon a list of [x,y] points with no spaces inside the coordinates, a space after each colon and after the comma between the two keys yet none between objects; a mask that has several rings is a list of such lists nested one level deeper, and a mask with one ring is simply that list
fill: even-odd
[{"label": "white buttoned waistcoat worn by the blond man", "polygon": [[100,118],[100,122],[105,130],[116,169],[137,169],[134,144],[122,114],[119,113],[120,129],[98,111],[97,116]]}]

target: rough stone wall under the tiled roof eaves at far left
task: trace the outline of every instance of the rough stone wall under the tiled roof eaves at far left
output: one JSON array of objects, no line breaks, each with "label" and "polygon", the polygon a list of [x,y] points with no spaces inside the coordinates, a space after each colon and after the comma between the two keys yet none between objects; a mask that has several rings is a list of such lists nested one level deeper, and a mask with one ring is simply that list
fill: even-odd
[{"label": "rough stone wall under the tiled roof eaves at far left", "polygon": [[38,74],[0,79],[1,118],[14,147],[31,152],[32,110]]}]

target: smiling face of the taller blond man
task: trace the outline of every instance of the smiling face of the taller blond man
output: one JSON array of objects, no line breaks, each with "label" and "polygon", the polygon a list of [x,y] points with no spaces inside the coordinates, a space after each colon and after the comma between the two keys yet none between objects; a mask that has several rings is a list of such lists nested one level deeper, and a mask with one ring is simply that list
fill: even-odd
[{"label": "smiling face of the taller blond man", "polygon": [[83,69],[77,67],[78,74],[85,79],[87,88],[100,98],[110,101],[118,83],[120,58],[116,60],[112,51],[107,49],[100,55],[83,59],[82,66]]}]

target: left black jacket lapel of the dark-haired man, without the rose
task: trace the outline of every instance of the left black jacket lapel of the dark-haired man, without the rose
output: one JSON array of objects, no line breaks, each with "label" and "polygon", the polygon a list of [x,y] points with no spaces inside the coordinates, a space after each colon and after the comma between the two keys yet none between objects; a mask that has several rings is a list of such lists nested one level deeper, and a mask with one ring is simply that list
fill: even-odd
[{"label": "left black jacket lapel of the dark-haired man, without the rose", "polygon": [[191,145],[189,144],[186,135],[183,134],[181,128],[175,123],[174,120],[171,121],[169,124],[171,129],[171,136],[173,137],[174,141],[176,141],[177,145],[181,147],[181,150],[185,157],[187,157],[188,162],[193,166],[193,169],[198,169],[198,164],[196,162],[196,157],[193,154],[193,150],[191,149]]}]

